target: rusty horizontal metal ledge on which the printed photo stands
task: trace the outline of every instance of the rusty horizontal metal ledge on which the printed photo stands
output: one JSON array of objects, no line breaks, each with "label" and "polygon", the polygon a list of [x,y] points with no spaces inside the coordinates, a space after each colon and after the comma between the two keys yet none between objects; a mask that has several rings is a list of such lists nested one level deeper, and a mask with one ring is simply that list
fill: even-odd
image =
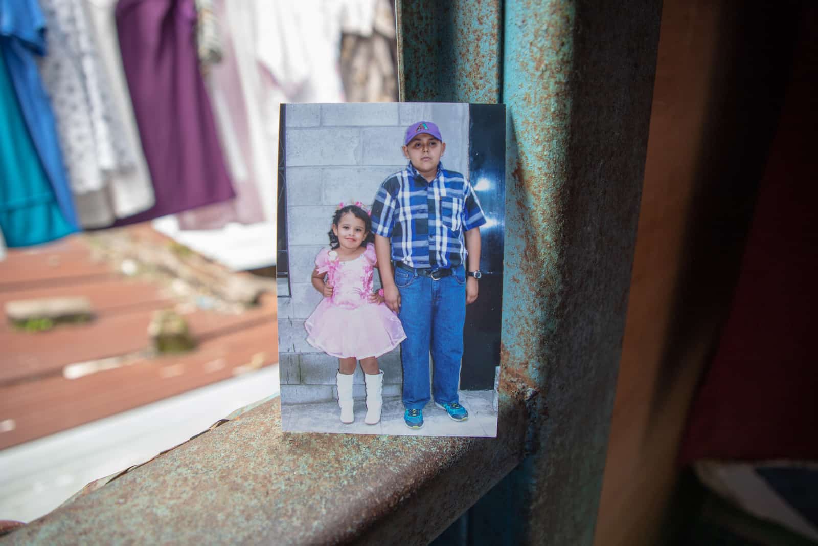
[{"label": "rusty horizontal metal ledge on which the printed photo stands", "polygon": [[80,496],[0,544],[427,544],[523,458],[497,438],[294,434],[279,399]]}]

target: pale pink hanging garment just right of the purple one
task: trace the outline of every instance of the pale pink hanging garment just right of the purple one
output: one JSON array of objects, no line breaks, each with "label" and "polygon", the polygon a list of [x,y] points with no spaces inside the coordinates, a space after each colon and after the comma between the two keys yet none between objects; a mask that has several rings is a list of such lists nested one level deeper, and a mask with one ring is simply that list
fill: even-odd
[{"label": "pale pink hanging garment just right of the purple one", "polygon": [[[216,21],[225,30],[225,39],[218,40],[220,62],[213,64],[211,58],[206,82],[236,199],[178,214],[180,229],[218,229],[230,222],[263,222],[263,200],[258,188],[276,180],[276,156],[271,152],[273,143],[265,142],[261,136],[264,120],[258,111],[258,98],[253,97],[254,82],[246,77],[253,69],[252,66],[242,66],[242,59],[236,56],[237,50],[246,55],[252,47],[252,34],[246,27],[245,31],[236,31],[239,28],[236,25],[242,24],[237,22],[236,12],[243,11],[240,4],[244,3],[246,7],[248,2],[229,2],[232,4],[229,8],[227,3],[225,0],[210,3],[209,14],[205,21],[201,21],[210,29],[205,32],[200,27],[200,36],[203,33],[213,36]],[[248,18],[248,21],[252,20],[252,16]],[[200,43],[199,46],[200,62],[205,62],[203,45]]]}]

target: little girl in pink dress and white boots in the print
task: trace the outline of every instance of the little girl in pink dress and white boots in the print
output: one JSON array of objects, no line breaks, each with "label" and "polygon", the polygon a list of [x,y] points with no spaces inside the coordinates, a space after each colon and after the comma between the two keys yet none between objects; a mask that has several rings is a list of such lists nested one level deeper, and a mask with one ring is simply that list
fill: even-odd
[{"label": "little girl in pink dress and white boots in the print", "polygon": [[330,249],[322,249],[312,270],[312,286],[324,299],[304,323],[307,341],[339,359],[338,405],[341,422],[353,422],[353,372],[357,360],[366,378],[367,425],[380,421],[384,372],[378,357],[406,339],[403,327],[384,305],[383,291],[372,291],[377,266],[371,219],[360,201],[341,203],[332,218]]}]

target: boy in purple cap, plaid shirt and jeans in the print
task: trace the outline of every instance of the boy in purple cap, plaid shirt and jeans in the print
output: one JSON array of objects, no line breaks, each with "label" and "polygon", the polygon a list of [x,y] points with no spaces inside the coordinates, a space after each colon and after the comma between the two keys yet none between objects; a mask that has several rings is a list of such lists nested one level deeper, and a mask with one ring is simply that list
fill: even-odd
[{"label": "boy in purple cap, plaid shirt and jeans in the print", "polygon": [[409,163],[381,184],[371,220],[386,305],[407,335],[401,343],[403,420],[420,429],[431,399],[429,351],[435,404],[455,421],[469,417],[457,388],[465,306],[478,296],[479,226],[486,219],[469,181],[443,169],[446,144],[437,125],[411,124],[402,151]]}]

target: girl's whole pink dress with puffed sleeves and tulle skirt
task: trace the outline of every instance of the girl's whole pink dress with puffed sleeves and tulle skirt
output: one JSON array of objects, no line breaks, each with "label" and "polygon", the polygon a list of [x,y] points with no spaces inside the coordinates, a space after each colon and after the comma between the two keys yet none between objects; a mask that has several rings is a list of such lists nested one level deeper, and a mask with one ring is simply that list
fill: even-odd
[{"label": "girl's whole pink dress with puffed sleeves and tulle skirt", "polygon": [[386,304],[369,301],[375,262],[372,243],[362,255],[347,262],[340,261],[332,250],[318,253],[318,273],[327,274],[333,291],[304,323],[310,345],[339,359],[366,359],[388,353],[407,338],[398,315]]}]

